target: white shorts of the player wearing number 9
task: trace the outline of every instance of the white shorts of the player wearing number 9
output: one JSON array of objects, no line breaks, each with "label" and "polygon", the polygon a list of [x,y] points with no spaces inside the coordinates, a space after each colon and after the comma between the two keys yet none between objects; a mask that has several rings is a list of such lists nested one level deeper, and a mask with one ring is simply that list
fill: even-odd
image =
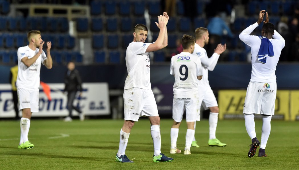
[{"label": "white shorts of the player wearing number 9", "polygon": [[186,122],[195,122],[199,115],[198,98],[173,98],[172,118],[181,122],[186,109]]}]

